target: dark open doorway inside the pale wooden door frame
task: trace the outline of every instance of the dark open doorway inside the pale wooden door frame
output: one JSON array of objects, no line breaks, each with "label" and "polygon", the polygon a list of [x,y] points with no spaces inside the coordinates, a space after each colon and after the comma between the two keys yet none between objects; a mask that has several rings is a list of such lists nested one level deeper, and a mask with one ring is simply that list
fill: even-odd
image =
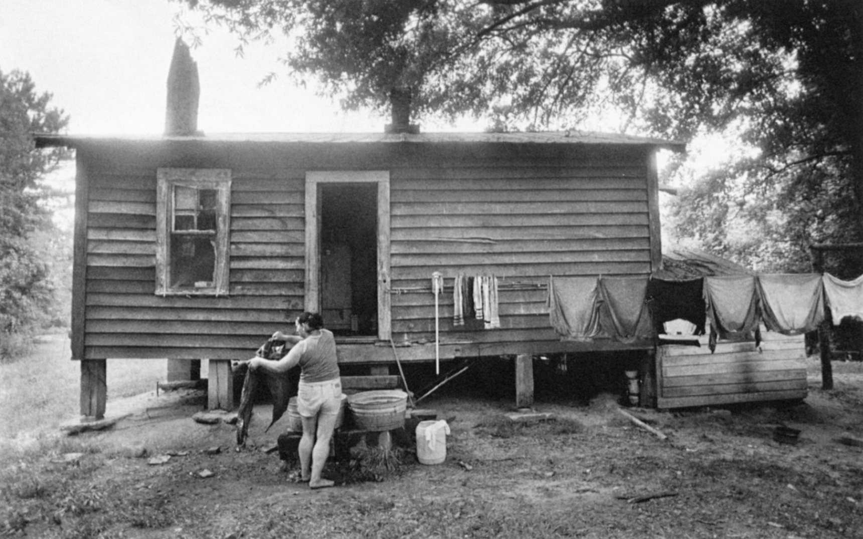
[{"label": "dark open doorway inside the pale wooden door frame", "polygon": [[319,184],[321,315],[336,335],[377,335],[377,184]]}]

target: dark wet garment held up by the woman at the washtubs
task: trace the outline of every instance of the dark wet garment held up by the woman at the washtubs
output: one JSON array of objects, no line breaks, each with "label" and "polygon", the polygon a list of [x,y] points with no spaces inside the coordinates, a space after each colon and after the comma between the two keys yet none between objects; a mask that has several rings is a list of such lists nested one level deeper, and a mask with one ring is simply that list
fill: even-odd
[{"label": "dark wet garment held up by the woman at the washtubs", "polygon": [[[263,348],[259,348],[258,351],[261,352]],[[287,350],[290,349],[287,346],[283,346],[282,348],[284,349],[284,354],[287,354]],[[267,360],[279,360],[281,356],[276,357],[276,355],[278,353],[270,353],[269,356],[263,357]],[[288,400],[297,394],[299,367],[294,367],[287,373],[268,373],[261,369],[252,370],[248,364],[243,364],[238,368],[244,368],[246,371],[245,379],[243,379],[243,393],[240,396],[240,407],[236,412],[236,444],[243,445],[246,442],[246,436],[249,435],[252,408],[255,405],[255,398],[260,391],[259,388],[261,385],[267,386],[270,396],[273,398],[273,419],[270,421],[267,429],[265,429],[264,432],[266,432],[285,413]]]}]

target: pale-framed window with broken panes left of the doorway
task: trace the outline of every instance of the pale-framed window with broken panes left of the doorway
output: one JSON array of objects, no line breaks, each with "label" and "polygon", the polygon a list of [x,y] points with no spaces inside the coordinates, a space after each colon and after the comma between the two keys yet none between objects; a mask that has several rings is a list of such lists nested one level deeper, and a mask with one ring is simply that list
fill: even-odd
[{"label": "pale-framed window with broken panes left of the doorway", "polygon": [[228,293],[230,170],[156,172],[156,293]]}]

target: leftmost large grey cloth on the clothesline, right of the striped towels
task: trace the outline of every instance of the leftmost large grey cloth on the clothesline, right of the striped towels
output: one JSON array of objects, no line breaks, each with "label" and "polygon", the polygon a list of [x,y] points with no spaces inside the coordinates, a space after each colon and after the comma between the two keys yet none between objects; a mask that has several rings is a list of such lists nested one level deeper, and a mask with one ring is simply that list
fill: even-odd
[{"label": "leftmost large grey cloth on the clothesline, right of the striped towels", "polygon": [[562,339],[587,341],[603,336],[597,288],[595,277],[552,277],[549,280],[549,319]]}]

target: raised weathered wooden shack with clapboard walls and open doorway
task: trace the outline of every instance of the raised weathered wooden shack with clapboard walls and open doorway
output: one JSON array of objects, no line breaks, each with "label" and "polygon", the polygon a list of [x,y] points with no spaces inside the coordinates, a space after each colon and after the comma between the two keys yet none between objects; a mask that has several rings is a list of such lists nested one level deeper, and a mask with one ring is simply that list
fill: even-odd
[{"label": "raised weathered wooden shack with clapboard walls and open doorway", "polygon": [[[517,355],[529,378],[530,354],[653,347],[562,342],[546,284],[658,269],[656,153],[683,143],[578,132],[35,140],[76,151],[84,415],[104,413],[107,358],[208,359],[211,406],[230,407],[230,360],[302,310],[324,314],[343,364]],[[458,273],[498,279],[500,328],[453,325]]]}]

